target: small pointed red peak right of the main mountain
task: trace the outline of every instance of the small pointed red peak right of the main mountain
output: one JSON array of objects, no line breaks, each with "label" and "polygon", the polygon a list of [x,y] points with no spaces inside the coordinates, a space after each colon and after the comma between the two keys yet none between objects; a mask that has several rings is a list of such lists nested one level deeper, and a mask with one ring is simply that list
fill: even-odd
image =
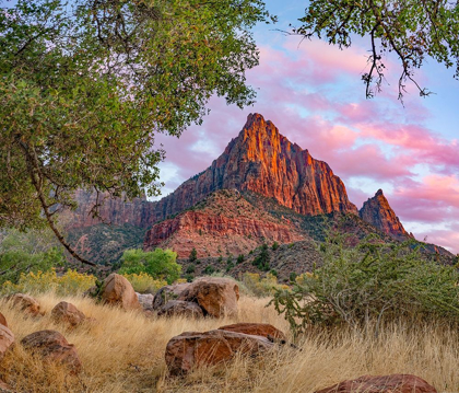
[{"label": "small pointed red peak right of the main mountain", "polygon": [[390,207],[381,189],[363,205],[358,215],[364,221],[395,239],[404,240],[410,236]]}]

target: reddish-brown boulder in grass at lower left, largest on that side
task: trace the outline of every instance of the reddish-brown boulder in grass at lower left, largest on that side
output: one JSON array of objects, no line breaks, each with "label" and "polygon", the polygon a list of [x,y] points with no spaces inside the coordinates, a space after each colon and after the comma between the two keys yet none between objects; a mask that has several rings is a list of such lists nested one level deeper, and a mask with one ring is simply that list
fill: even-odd
[{"label": "reddish-brown boulder in grass at lower left, largest on that side", "polygon": [[27,350],[47,361],[61,363],[74,374],[81,371],[81,361],[73,344],[69,344],[59,332],[40,331],[25,336],[21,344]]}]

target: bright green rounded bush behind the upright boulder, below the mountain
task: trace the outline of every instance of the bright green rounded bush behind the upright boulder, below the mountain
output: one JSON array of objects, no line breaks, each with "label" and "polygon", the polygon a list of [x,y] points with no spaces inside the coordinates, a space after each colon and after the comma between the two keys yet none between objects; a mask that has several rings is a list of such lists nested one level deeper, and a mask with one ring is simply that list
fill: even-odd
[{"label": "bright green rounded bush behind the upright boulder, below the mountain", "polygon": [[173,284],[180,277],[181,266],[176,263],[177,253],[156,248],[153,252],[127,250],[120,259],[120,275],[146,273],[155,280]]}]

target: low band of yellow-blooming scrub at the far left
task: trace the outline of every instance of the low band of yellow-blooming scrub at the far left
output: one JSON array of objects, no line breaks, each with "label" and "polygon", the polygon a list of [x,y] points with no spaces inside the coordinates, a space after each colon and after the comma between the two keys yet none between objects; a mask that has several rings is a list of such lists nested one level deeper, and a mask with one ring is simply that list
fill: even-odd
[{"label": "low band of yellow-blooming scrub at the far left", "polygon": [[96,282],[96,277],[81,274],[75,270],[67,270],[62,276],[58,276],[55,269],[48,271],[31,271],[21,274],[17,284],[5,281],[0,289],[2,294],[9,293],[45,293],[56,292],[58,294],[79,294],[83,293]]}]

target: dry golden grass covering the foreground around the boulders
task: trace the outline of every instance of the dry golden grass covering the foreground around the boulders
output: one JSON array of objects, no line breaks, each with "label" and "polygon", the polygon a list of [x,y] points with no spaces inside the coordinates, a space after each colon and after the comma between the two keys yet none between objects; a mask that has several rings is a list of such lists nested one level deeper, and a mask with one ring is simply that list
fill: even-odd
[{"label": "dry golden grass covering the foreground around the boulders", "polygon": [[[443,326],[392,324],[378,338],[357,332],[310,333],[301,351],[283,348],[258,359],[237,358],[224,367],[169,378],[164,361],[168,339],[185,331],[203,332],[235,322],[287,325],[268,299],[243,297],[239,314],[226,320],[146,319],[140,313],[95,304],[91,299],[36,297],[46,315],[26,319],[0,302],[10,328],[20,342],[45,330],[61,332],[75,345],[83,363],[79,378],[59,367],[43,365],[20,345],[0,365],[0,378],[19,392],[314,392],[363,374],[413,373],[442,391],[459,391],[458,333]],[[74,303],[97,324],[67,330],[50,320],[60,300]]]}]

